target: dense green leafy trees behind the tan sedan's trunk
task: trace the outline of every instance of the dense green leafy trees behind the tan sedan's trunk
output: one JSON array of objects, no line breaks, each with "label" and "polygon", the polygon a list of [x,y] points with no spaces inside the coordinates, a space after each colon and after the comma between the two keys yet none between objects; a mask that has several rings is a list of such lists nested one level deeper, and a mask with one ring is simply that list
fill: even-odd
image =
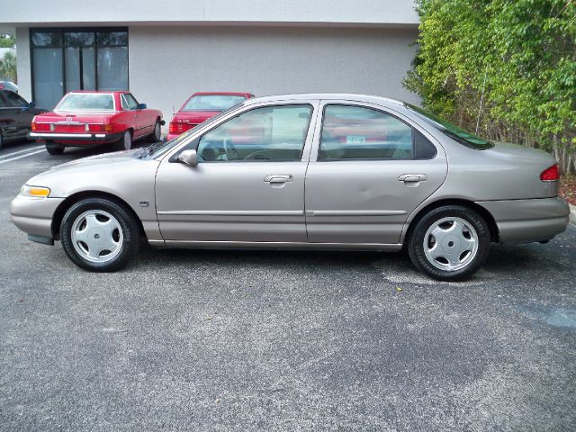
[{"label": "dense green leafy trees behind the tan sedan's trunk", "polygon": [[554,151],[576,150],[575,0],[417,0],[419,52],[404,85],[433,112]]}]

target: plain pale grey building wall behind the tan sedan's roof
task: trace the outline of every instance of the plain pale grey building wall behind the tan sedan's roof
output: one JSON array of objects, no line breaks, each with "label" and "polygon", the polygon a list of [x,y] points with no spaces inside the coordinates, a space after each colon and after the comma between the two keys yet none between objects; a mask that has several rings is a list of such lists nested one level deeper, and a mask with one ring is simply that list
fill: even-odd
[{"label": "plain pale grey building wall behind the tan sedan's roof", "polygon": [[166,122],[197,91],[349,92],[418,102],[401,85],[414,29],[133,26],[130,91]]}]

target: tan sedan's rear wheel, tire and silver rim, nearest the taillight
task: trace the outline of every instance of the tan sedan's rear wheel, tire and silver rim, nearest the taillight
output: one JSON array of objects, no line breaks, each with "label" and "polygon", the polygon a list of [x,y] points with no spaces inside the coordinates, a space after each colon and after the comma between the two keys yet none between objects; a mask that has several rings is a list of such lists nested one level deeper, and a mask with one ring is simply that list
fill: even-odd
[{"label": "tan sedan's rear wheel, tire and silver rim, nearest the taillight", "polygon": [[486,261],[491,235],[475,211],[446,205],[418,221],[409,239],[410,259],[420,271],[441,281],[462,281]]}]

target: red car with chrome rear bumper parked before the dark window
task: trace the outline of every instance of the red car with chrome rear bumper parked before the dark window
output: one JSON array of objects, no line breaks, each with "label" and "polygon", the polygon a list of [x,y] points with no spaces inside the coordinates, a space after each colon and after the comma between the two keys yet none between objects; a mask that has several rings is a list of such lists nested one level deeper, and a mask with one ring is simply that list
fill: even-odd
[{"label": "red car with chrome rear bumper parked before the dark window", "polygon": [[132,141],[160,139],[162,112],[151,110],[130,92],[77,91],[66,94],[51,112],[32,120],[29,139],[46,143],[50,155],[67,146],[84,147],[120,142],[130,149]]}]

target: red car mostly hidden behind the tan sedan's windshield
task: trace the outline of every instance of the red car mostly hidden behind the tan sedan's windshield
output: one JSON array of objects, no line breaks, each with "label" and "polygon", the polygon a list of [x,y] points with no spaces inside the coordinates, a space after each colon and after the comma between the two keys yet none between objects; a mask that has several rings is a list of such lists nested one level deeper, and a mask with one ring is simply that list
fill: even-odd
[{"label": "red car mostly hidden behind the tan sedan's windshield", "polygon": [[201,92],[194,93],[174,114],[168,128],[167,139],[173,139],[186,130],[198,126],[219,112],[254,97],[251,93]]}]

